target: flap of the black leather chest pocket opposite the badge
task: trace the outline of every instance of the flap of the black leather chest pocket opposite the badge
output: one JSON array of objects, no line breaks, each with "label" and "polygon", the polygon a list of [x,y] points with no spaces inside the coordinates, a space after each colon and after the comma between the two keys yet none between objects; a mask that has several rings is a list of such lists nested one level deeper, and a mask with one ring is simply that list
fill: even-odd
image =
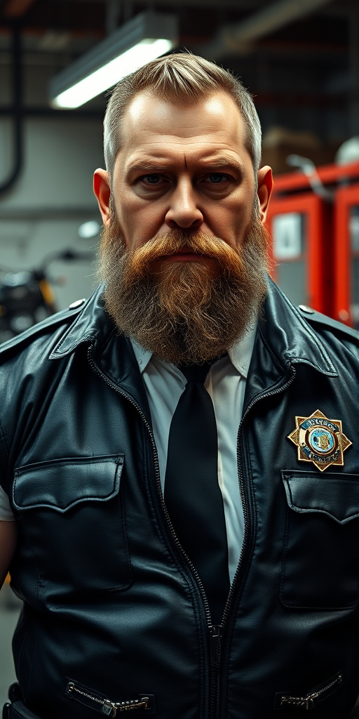
[{"label": "flap of the black leather chest pocket opposite the badge", "polygon": [[106,501],[118,493],[123,454],[107,457],[53,459],[15,470],[14,506],[66,512],[85,501]]}]

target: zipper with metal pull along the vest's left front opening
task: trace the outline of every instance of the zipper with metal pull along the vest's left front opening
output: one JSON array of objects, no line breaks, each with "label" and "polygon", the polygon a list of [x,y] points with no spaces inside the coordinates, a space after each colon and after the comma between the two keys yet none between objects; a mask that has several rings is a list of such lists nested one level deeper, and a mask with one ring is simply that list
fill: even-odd
[{"label": "zipper with metal pull along the vest's left front opening", "polygon": [[[207,629],[208,629],[208,636],[205,637],[205,640],[206,640],[206,644],[209,644],[209,646],[210,646],[210,649],[209,649],[209,654],[210,654],[210,700],[209,700],[209,704],[212,705],[213,704],[213,695],[215,695],[215,693],[217,691],[217,685],[218,685],[218,671],[219,671],[219,661],[220,661],[220,637],[221,637],[222,628],[221,627],[219,628],[218,626],[212,626],[212,620],[210,617],[210,607],[209,607],[208,600],[207,600],[207,597],[205,594],[205,590],[204,590],[204,587],[200,580],[199,574],[197,574],[197,569],[195,568],[194,564],[192,564],[190,557],[188,557],[185,550],[182,549],[180,540],[177,538],[177,534],[175,533],[174,528],[172,526],[172,522],[169,518],[169,513],[168,513],[167,507],[164,503],[164,498],[163,498],[163,494],[162,494],[161,477],[159,475],[159,461],[158,461],[158,454],[157,454],[157,446],[156,446],[156,442],[154,441],[154,435],[152,433],[151,426],[149,425],[149,422],[147,421],[146,415],[141,410],[141,407],[139,406],[139,404],[137,402],[135,402],[135,400],[131,397],[131,395],[128,395],[126,392],[121,390],[121,388],[119,388],[118,385],[116,385],[114,382],[109,380],[108,377],[106,377],[106,375],[100,370],[100,367],[98,367],[98,365],[95,364],[95,361],[92,356],[92,348],[93,348],[93,345],[90,344],[88,347],[88,363],[89,363],[91,369],[93,370],[93,372],[95,372],[96,375],[101,377],[103,382],[106,383],[106,385],[108,385],[108,387],[111,387],[113,390],[115,390],[115,392],[117,392],[119,395],[121,395],[126,400],[128,400],[129,403],[132,406],[134,406],[134,408],[136,408],[136,410],[139,412],[139,415],[141,416],[141,419],[144,421],[144,425],[146,426],[146,429],[149,433],[149,437],[151,439],[153,457],[154,457],[154,472],[155,472],[155,479],[156,479],[156,486],[157,486],[157,494],[159,496],[159,502],[161,504],[162,511],[164,512],[164,516],[167,521],[167,527],[169,528],[169,532],[171,534],[172,541],[174,542],[176,549],[182,555],[182,558],[185,560],[187,567],[189,567],[189,569],[191,570],[192,574],[195,577],[197,589],[200,590],[200,595],[201,595],[203,606],[205,609],[205,618],[206,618]],[[220,629],[220,632],[218,631],[219,629]],[[217,634],[217,631],[218,631],[218,634]],[[215,644],[217,644],[217,650],[214,653],[213,653],[213,641],[215,642]],[[214,656],[216,657],[215,664],[213,664]],[[210,719],[212,717],[212,715],[214,717],[214,713],[210,712],[210,714],[208,715],[208,719]]]}]

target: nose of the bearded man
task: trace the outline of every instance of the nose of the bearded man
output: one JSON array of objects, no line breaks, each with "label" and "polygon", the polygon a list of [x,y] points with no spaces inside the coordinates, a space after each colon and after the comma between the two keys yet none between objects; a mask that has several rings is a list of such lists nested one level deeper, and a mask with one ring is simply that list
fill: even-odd
[{"label": "nose of the bearded man", "polygon": [[195,189],[190,180],[180,180],[171,196],[164,221],[170,229],[175,227],[200,228],[203,215],[197,204]]}]

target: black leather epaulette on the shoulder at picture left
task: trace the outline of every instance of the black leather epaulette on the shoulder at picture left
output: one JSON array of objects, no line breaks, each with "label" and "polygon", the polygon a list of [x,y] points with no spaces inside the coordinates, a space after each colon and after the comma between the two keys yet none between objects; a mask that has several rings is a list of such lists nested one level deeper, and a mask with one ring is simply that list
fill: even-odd
[{"label": "black leather epaulette on the shoulder at picture left", "polygon": [[53,338],[58,342],[76,321],[80,312],[83,311],[84,305],[85,299],[77,300],[65,310],[47,317],[42,322],[29,327],[21,334],[1,344],[0,365],[11,359],[11,357],[16,357],[22,352],[26,352],[30,347],[34,349],[36,344],[44,349],[44,345],[51,344]]}]

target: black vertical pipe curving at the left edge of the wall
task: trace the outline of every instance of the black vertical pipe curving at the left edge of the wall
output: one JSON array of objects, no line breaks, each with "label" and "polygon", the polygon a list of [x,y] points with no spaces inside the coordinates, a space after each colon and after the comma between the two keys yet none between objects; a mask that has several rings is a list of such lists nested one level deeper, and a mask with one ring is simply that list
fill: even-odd
[{"label": "black vertical pipe curving at the left edge of the wall", "polygon": [[22,48],[21,48],[21,32],[19,23],[14,22],[12,26],[12,88],[13,88],[13,106],[11,114],[13,116],[13,133],[14,133],[14,166],[9,174],[9,178],[0,184],[0,194],[11,189],[19,178],[24,164],[23,153],[23,129],[22,129]]}]

